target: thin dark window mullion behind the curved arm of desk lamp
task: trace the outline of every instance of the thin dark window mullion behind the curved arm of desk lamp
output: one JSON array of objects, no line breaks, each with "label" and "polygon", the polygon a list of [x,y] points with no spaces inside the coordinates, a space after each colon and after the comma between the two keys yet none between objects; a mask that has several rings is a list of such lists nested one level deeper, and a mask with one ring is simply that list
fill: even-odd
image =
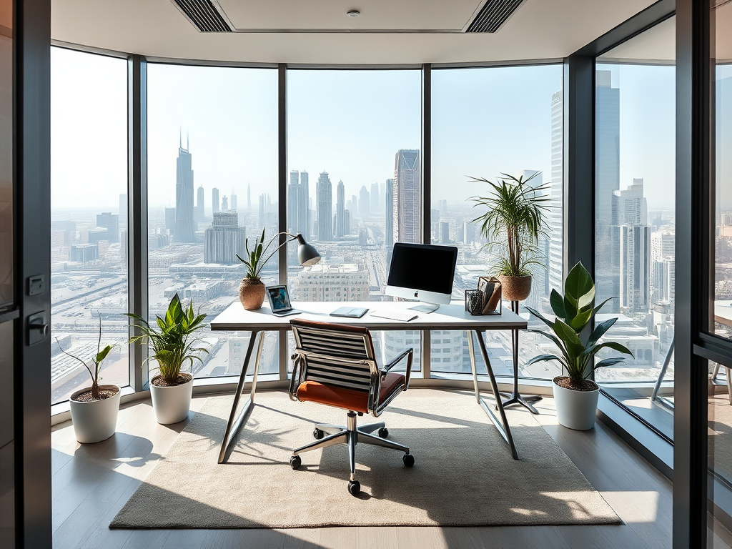
[{"label": "thin dark window mullion behind the curved arm of desk lamp", "polygon": [[[287,64],[277,65],[277,227],[287,232]],[[307,203],[307,200],[306,200]],[[280,244],[287,237],[280,236]],[[277,252],[280,284],[287,284],[287,245]],[[289,332],[280,332],[280,380],[287,379]]]}]

